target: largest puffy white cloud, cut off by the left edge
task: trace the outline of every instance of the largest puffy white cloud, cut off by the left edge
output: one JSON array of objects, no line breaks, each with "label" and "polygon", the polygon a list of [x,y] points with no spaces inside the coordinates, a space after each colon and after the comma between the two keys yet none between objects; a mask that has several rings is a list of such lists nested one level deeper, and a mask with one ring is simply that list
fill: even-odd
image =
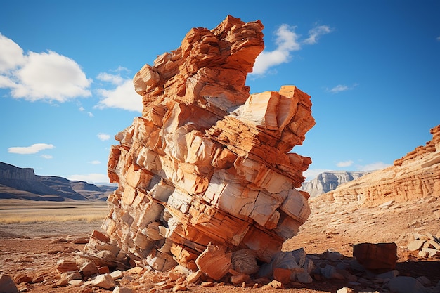
[{"label": "largest puffy white cloud, cut off by the left edge", "polygon": [[23,54],[14,41],[0,34],[0,87],[11,90],[13,98],[63,103],[91,96],[81,67],[56,52]]}]

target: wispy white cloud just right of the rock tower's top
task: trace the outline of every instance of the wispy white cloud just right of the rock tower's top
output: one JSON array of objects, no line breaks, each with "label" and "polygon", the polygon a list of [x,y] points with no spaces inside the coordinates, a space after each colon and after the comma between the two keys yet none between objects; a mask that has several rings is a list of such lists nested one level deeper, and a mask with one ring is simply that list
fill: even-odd
[{"label": "wispy white cloud just right of the rock tower's top", "polygon": [[295,29],[296,27],[286,24],[278,27],[275,32],[276,49],[274,51],[262,51],[255,60],[251,74],[263,75],[273,66],[290,62],[292,58],[290,54],[301,50],[301,44],[316,44],[319,37],[331,32],[330,27],[326,25],[316,26],[309,31],[309,37],[301,41],[300,35],[295,32]]}]

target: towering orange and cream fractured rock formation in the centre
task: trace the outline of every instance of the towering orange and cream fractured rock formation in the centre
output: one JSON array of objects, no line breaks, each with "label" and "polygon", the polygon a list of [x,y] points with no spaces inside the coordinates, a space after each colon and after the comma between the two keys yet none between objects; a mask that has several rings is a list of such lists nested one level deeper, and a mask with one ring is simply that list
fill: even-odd
[{"label": "towering orange and cream fractured rock formation in the centre", "polygon": [[196,270],[215,250],[227,268],[238,249],[269,262],[310,214],[309,195],[295,188],[311,159],[290,152],[315,124],[310,96],[245,86],[262,29],[231,16],[193,28],[134,77],[143,113],[110,151],[119,187],[103,228],[145,266]]}]

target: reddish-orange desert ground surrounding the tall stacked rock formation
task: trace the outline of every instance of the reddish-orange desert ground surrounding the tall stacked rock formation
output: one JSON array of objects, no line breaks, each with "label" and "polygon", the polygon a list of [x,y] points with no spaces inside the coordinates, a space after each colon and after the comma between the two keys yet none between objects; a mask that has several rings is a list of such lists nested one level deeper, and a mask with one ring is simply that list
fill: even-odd
[{"label": "reddish-orange desert ground surrounding the tall stacked rock formation", "polygon": [[[435,286],[440,281],[440,256],[420,256],[407,249],[413,233],[440,236],[440,209],[437,197],[411,202],[392,202],[385,206],[362,207],[357,203],[336,204],[311,201],[311,215],[299,234],[285,242],[283,250],[303,247],[315,259],[328,249],[353,256],[353,245],[370,242],[395,242],[398,250],[396,269],[400,275],[425,276]],[[81,240],[93,230],[101,230],[108,209],[105,202],[0,202],[0,275],[10,275],[20,292],[112,292],[98,287],[74,287],[60,282],[56,263],[74,259],[84,249]],[[79,243],[75,243],[79,242]],[[139,274],[139,272],[137,272]],[[142,275],[143,274],[143,275]],[[150,278],[155,275],[155,278]],[[124,287],[134,292],[172,292],[155,285],[160,274],[141,272],[141,278],[126,278]],[[124,280],[124,279],[123,279]],[[127,281],[129,280],[129,281]],[[368,282],[366,280],[365,282]],[[242,287],[213,282],[213,287],[199,283],[188,285],[188,292],[337,292],[351,287],[354,292],[389,292],[381,284],[349,283],[348,280],[314,278],[311,284],[290,283],[284,289],[259,286]],[[162,287],[163,288],[163,287]]]}]

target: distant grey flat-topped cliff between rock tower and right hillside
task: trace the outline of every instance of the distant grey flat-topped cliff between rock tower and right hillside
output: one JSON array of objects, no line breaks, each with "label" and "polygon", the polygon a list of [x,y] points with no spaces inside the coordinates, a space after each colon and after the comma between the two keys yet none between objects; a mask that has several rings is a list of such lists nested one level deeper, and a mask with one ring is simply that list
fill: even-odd
[{"label": "distant grey flat-topped cliff between rock tower and right hillside", "polygon": [[310,197],[316,197],[336,189],[342,183],[360,178],[371,171],[325,171],[311,181],[302,183],[299,190],[306,191]]}]

